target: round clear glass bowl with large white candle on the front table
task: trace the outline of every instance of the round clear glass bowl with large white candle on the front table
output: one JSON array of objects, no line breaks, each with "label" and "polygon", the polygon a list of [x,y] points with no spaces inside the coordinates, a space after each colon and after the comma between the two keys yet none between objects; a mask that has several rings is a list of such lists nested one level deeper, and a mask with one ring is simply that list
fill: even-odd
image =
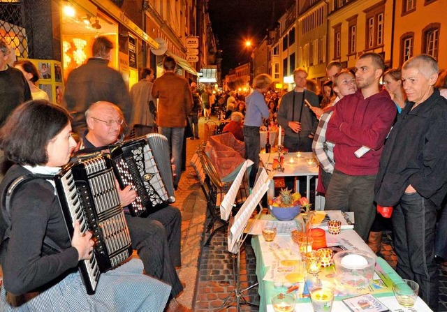
[{"label": "round clear glass bowl with large white candle on the front table", "polygon": [[337,280],[348,288],[365,288],[372,283],[376,258],[367,251],[341,251],[334,255]]}]

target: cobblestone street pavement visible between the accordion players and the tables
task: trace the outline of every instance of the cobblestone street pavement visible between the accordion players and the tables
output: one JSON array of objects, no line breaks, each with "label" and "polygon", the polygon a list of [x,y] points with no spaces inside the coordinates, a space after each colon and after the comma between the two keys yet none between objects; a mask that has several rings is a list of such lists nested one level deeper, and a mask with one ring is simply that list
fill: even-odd
[{"label": "cobblestone street pavement visible between the accordion players and the tables", "polygon": [[[203,117],[199,120],[199,134],[203,138]],[[178,301],[193,311],[236,311],[233,284],[233,261],[227,251],[226,233],[219,231],[210,246],[202,246],[208,237],[205,230],[206,202],[193,168],[189,165],[194,151],[202,140],[186,140],[186,171],[180,179],[175,205],[182,210],[182,268],[180,279],[186,288]],[[397,258],[391,244],[390,233],[384,233],[381,255],[395,267]],[[240,260],[241,288],[257,282],[256,258],[247,239]],[[230,299],[228,296],[232,295]],[[244,292],[247,301],[259,302],[258,288]],[[225,305],[223,302],[228,299]],[[227,308],[227,304],[233,304]],[[256,307],[242,305],[242,311],[258,311]],[[439,312],[447,312],[447,262],[439,262]]]}]

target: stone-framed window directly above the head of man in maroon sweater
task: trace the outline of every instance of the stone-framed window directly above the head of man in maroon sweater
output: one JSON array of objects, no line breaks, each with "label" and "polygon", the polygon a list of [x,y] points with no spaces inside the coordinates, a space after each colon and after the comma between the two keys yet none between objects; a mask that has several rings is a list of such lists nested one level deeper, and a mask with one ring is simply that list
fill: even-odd
[{"label": "stone-framed window directly above the head of man in maroon sweater", "polygon": [[383,3],[378,3],[376,6],[372,6],[365,10],[366,13],[366,48],[372,49],[374,47],[378,47],[379,45],[383,45],[383,30],[384,30],[384,21],[383,14],[385,8]]}]

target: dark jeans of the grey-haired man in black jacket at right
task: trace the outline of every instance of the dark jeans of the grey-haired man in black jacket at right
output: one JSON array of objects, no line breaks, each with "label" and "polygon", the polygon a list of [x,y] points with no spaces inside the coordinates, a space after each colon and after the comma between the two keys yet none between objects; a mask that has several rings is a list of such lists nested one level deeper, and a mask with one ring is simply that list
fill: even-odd
[{"label": "dark jeans of the grey-haired man in black jacket at right", "polygon": [[397,274],[416,281],[420,297],[430,309],[438,311],[438,268],[434,261],[436,205],[418,193],[405,193],[391,218]]}]

